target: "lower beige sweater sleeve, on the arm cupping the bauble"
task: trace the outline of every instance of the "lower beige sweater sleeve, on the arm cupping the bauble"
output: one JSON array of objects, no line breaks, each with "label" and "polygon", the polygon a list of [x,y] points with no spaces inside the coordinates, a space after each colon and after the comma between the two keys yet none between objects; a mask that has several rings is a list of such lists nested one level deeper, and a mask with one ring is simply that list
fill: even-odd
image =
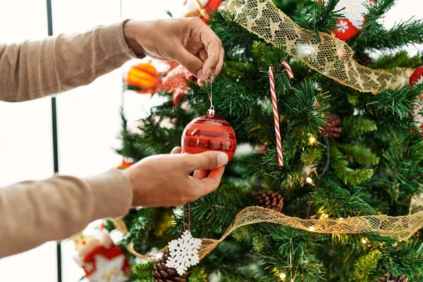
[{"label": "lower beige sweater sleeve, on the arm cupping the bauble", "polygon": [[0,258],[66,239],[96,219],[122,216],[132,202],[130,180],[117,170],[0,188]]}]

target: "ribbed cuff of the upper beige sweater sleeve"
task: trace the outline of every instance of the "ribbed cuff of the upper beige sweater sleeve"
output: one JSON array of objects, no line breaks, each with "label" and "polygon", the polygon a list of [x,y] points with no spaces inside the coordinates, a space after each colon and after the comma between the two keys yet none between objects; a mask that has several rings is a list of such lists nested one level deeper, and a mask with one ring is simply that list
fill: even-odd
[{"label": "ribbed cuff of the upper beige sweater sleeve", "polygon": [[126,20],[123,20],[119,23],[98,27],[100,47],[107,54],[107,59],[121,54],[128,54],[133,58],[137,57],[132,49],[128,47],[125,36],[123,35],[123,25],[125,22]]}]

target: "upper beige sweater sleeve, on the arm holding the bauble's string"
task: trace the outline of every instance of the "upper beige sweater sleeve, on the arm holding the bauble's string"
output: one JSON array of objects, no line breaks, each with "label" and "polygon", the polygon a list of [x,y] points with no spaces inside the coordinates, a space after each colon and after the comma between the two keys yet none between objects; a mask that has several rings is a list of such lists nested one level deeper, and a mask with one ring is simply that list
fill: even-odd
[{"label": "upper beige sweater sleeve, on the arm holding the bauble's string", "polygon": [[123,23],[20,44],[0,44],[0,100],[21,102],[87,85],[135,57]]}]

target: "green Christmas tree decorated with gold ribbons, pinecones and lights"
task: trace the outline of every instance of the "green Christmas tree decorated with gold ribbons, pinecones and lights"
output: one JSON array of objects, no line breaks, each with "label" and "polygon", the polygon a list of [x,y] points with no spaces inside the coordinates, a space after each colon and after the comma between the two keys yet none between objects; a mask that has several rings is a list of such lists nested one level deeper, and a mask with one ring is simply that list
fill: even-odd
[{"label": "green Christmas tree decorated with gold ribbons, pinecones and lights", "polygon": [[[238,141],[219,189],[189,211],[140,207],[119,221],[125,228],[106,225],[125,234],[118,245],[133,265],[130,281],[423,281],[423,214],[412,208],[423,192],[423,60],[401,51],[423,43],[423,22],[387,30],[381,20],[393,4],[223,1],[209,20],[226,50],[219,77],[199,85],[176,72],[183,86],[161,91],[128,80],[166,102],[137,130],[123,115],[124,165],[180,146],[210,93]],[[200,250],[200,263],[180,276],[166,266],[166,246],[188,228],[188,213],[192,235],[214,249]],[[231,234],[214,241],[234,219]]]}]

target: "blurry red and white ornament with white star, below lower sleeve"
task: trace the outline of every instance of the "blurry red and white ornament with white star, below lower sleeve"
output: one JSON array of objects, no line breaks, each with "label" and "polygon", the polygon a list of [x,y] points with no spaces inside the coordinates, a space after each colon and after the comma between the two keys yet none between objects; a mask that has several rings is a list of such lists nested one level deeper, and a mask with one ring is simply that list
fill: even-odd
[{"label": "blurry red and white ornament with white star, below lower sleeve", "polygon": [[90,282],[128,280],[130,264],[125,255],[114,245],[106,230],[97,235],[78,234],[71,238],[77,254],[75,262],[85,271]]}]

